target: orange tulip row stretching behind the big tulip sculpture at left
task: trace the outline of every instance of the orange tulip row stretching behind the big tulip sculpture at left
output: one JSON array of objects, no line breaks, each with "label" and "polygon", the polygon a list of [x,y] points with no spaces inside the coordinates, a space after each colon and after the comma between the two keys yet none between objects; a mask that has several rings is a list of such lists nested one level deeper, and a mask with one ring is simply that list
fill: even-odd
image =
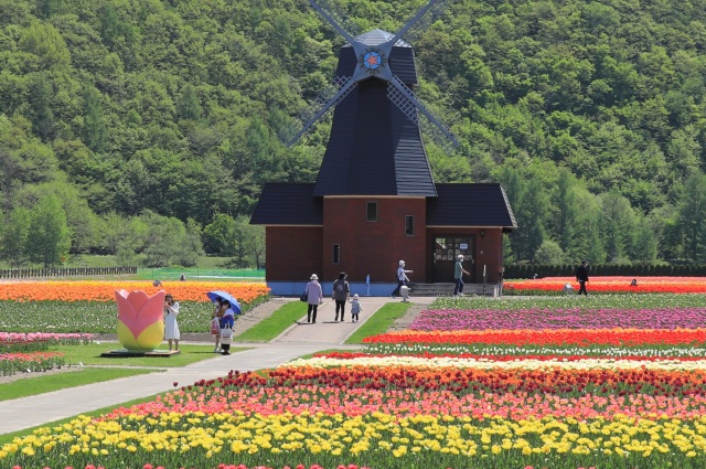
[{"label": "orange tulip row stretching behind the big tulip sculpture at left", "polygon": [[18,281],[4,284],[0,289],[0,300],[15,301],[115,301],[116,290],[142,290],[152,294],[163,289],[178,301],[210,301],[206,292],[226,290],[238,301],[252,302],[269,294],[264,283],[224,281],[164,281],[154,287],[147,281]]}]

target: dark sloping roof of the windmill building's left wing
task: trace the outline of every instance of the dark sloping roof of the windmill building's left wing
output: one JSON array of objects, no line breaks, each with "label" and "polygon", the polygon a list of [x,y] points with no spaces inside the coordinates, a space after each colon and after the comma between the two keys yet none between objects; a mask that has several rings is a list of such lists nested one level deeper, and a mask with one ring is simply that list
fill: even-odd
[{"label": "dark sloping roof of the windmill building's left wing", "polygon": [[250,224],[321,226],[323,200],[312,193],[313,184],[269,182],[263,188]]}]

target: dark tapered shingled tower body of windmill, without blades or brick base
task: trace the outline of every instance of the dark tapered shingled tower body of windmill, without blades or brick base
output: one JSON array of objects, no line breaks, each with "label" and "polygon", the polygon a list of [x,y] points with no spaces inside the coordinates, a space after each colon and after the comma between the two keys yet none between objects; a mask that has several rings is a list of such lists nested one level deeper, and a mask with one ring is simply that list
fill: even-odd
[{"label": "dark tapered shingled tower body of windmill, without blades or brick base", "polygon": [[313,194],[436,195],[419,127],[386,82],[363,81],[336,106]]}]

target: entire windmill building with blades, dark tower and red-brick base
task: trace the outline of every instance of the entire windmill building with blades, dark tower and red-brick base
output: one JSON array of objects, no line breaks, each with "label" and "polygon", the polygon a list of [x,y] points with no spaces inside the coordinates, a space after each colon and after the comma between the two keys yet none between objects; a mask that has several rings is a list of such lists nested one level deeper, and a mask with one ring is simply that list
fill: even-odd
[{"label": "entire windmill building with blades, dark tower and red-brick base", "polygon": [[[482,270],[490,265],[496,274],[502,233],[516,226],[502,188],[435,184],[421,140],[426,122],[425,132],[435,140],[447,148],[458,145],[416,97],[414,50],[403,40],[442,1],[429,0],[396,33],[356,35],[342,26],[347,22],[331,0],[309,1],[347,43],[339,52],[331,93],[286,139],[295,145],[333,110],[315,183],[267,184],[250,218],[266,226],[266,279],[272,292],[299,295],[315,273],[328,294],[345,271],[352,287],[359,286],[353,292],[371,291],[373,284],[372,295],[389,295],[400,259],[414,270],[415,283],[451,281],[454,256],[472,258],[477,252],[490,263]],[[479,236],[483,239],[477,243]]]}]

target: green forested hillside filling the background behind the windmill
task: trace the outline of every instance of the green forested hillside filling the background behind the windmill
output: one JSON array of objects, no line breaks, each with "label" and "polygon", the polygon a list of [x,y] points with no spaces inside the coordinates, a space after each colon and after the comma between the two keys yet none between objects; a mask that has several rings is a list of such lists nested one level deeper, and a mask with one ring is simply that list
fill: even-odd
[{"label": "green forested hillside filling the background behind the windmill", "polygon": [[[426,3],[331,1],[363,32]],[[509,262],[706,262],[706,0],[454,0],[429,20],[405,38],[416,92],[461,142],[429,141],[431,168],[503,184]],[[329,122],[278,136],[341,45],[307,0],[0,0],[4,259],[56,258],[17,241],[47,213],[63,252],[129,259],[163,222],[223,254],[265,182],[314,180]]]}]

